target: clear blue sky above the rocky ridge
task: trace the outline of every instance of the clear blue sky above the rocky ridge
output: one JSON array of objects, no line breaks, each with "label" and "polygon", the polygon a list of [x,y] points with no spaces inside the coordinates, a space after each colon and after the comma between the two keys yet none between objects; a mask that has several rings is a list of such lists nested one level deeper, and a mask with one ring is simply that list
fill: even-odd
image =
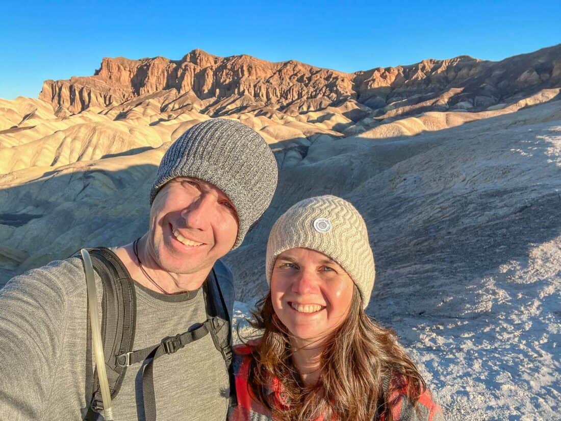
[{"label": "clear blue sky above the rocky ridge", "polygon": [[559,0],[473,3],[3,2],[0,98],[93,75],[103,57],[178,60],[194,48],[352,72],[462,54],[502,60],[561,43]]}]

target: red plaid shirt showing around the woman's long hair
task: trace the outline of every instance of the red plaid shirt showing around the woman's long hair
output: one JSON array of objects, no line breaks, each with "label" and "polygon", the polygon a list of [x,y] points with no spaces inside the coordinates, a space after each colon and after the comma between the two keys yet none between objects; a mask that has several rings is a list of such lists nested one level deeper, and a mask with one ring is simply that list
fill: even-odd
[{"label": "red plaid shirt showing around the woman's long hair", "polygon": [[[273,421],[270,411],[255,399],[252,399],[252,393],[247,382],[251,359],[250,346],[234,346],[233,364],[238,405],[230,409],[229,421]],[[274,379],[268,392],[274,393],[272,400],[277,405],[286,405],[283,400],[282,384],[277,379]],[[407,399],[404,388],[396,391],[392,397],[397,398],[394,399],[397,403],[392,408],[394,421],[444,421],[442,409],[433,401],[428,390],[421,395],[416,409],[413,408],[412,402]],[[315,421],[323,421],[323,419]],[[379,421],[384,421],[384,417],[380,418]]]}]

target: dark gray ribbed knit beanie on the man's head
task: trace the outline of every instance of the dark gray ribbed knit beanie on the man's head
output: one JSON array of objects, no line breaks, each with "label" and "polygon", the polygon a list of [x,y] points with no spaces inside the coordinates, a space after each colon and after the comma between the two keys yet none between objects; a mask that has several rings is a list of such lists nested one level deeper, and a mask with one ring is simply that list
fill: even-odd
[{"label": "dark gray ribbed knit beanie on the man's head", "polygon": [[207,181],[232,201],[238,215],[238,235],[232,249],[269,206],[277,187],[277,161],[257,132],[237,120],[214,118],[197,123],[165,152],[150,191],[175,177]]}]

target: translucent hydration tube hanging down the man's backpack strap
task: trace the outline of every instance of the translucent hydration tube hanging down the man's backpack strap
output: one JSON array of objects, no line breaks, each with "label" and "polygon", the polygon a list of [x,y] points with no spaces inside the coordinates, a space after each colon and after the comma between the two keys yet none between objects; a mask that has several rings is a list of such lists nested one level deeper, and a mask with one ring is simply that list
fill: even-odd
[{"label": "translucent hydration tube hanging down the man's backpack strap", "polygon": [[88,286],[88,306],[90,308],[91,340],[94,347],[95,367],[98,369],[99,388],[102,392],[103,418],[113,421],[113,408],[111,406],[111,392],[105,371],[105,358],[103,356],[102,331],[98,317],[98,297],[95,289],[94,268],[88,250],[81,249],[84,272],[86,273],[86,286]]}]

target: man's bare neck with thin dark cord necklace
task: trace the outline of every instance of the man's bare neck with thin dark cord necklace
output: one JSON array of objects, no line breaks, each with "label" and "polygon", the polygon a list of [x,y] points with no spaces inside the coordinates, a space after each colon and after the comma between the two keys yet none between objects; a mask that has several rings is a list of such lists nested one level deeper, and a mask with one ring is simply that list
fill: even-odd
[{"label": "man's bare neck with thin dark cord necklace", "polygon": [[137,241],[136,252],[140,261],[136,257],[135,242],[121,246],[116,250],[117,257],[121,259],[131,278],[149,290],[159,294],[182,294],[199,289],[206,280],[206,276],[200,273],[172,273],[160,268],[146,250],[146,236]]}]

